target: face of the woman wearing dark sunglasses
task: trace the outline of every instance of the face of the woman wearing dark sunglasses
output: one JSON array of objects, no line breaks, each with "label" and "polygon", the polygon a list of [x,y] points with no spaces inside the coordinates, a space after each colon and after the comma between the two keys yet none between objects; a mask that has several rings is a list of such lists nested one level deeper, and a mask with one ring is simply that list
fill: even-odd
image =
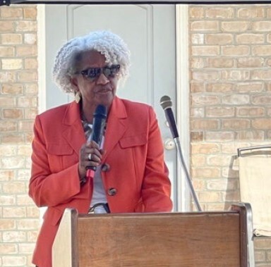
[{"label": "face of the woman wearing dark sunglasses", "polygon": [[[84,52],[80,58],[81,60],[77,66],[78,73],[90,68],[108,67],[104,55],[98,51]],[[89,70],[88,73],[92,74],[93,71]],[[101,72],[100,75],[97,75],[95,78],[82,74],[74,75],[71,78],[71,83],[76,91],[80,91],[83,106],[92,106],[95,108],[98,104],[102,104],[109,108],[116,95],[118,80],[119,76],[117,74],[106,76]]]}]

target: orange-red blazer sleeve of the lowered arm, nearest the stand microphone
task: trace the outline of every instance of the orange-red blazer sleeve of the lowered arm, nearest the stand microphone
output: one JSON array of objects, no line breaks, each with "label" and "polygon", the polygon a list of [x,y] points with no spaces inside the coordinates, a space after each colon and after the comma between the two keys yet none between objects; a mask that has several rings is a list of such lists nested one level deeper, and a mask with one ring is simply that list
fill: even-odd
[{"label": "orange-red blazer sleeve of the lowered arm, nearest the stand microphone", "polygon": [[147,158],[143,178],[142,199],[145,212],[171,211],[169,171],[164,163],[164,147],[155,111],[149,109]]}]

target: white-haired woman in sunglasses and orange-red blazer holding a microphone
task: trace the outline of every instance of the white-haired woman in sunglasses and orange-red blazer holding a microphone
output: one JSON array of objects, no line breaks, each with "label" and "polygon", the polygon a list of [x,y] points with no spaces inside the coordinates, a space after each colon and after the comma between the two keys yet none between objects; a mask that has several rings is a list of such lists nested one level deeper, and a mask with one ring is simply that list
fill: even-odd
[{"label": "white-haired woman in sunglasses and orange-red blazer holding a microphone", "polygon": [[[35,119],[30,197],[47,206],[33,263],[52,266],[52,244],[66,208],[79,213],[171,211],[171,185],[162,139],[151,106],[119,99],[130,52],[112,32],[92,32],[64,44],[54,80],[75,101]],[[99,146],[91,140],[93,113],[107,108]],[[95,167],[94,177],[87,169]],[[96,209],[95,209],[96,208]]]}]

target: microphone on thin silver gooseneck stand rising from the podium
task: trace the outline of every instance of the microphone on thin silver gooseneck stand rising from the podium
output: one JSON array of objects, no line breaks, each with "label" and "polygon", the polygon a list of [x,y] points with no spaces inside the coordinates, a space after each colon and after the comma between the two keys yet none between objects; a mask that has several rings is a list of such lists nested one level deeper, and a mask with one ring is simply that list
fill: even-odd
[{"label": "microphone on thin silver gooseneck stand rising from the podium", "polygon": [[174,118],[174,113],[173,113],[173,111],[171,109],[172,101],[171,101],[170,97],[168,97],[168,96],[161,97],[160,105],[164,109],[164,114],[165,114],[165,116],[167,118],[167,122],[169,123],[169,129],[170,129],[171,135],[172,135],[172,137],[174,139],[177,150],[179,151],[179,155],[180,155],[180,158],[181,158],[181,165],[183,166],[184,173],[186,174],[186,181],[188,182],[189,189],[191,190],[191,194],[192,194],[193,199],[195,201],[195,206],[197,207],[198,211],[202,211],[202,209],[200,208],[200,204],[198,202],[198,197],[195,194],[195,190],[193,188],[191,178],[190,178],[188,170],[186,168],[186,163],[185,163],[185,161],[183,159],[183,153],[181,151],[181,142],[180,142],[179,133],[178,133],[178,130],[177,130],[177,127],[176,127],[176,121],[175,121],[175,118]]}]

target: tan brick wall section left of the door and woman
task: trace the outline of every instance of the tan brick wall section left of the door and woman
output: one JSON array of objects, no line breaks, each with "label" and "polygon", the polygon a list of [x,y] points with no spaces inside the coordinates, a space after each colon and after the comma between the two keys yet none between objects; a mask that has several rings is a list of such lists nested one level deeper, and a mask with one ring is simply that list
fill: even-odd
[{"label": "tan brick wall section left of the door and woman", "polygon": [[28,197],[37,114],[37,10],[0,7],[0,266],[32,266],[40,227]]}]

